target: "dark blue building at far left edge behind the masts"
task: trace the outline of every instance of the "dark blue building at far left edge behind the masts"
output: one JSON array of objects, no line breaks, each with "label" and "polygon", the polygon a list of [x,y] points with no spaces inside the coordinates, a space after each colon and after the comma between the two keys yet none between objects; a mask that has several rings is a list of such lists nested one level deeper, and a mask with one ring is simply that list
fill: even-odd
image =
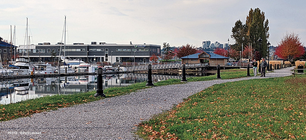
[{"label": "dark blue building at far left edge behind the masts", "polygon": [[[9,58],[9,61],[11,60],[11,44],[3,42],[3,38],[0,37],[0,56],[1,61],[6,61],[6,58]],[[14,57],[14,45],[12,45],[12,57]],[[16,46],[17,47],[17,46]]]}]

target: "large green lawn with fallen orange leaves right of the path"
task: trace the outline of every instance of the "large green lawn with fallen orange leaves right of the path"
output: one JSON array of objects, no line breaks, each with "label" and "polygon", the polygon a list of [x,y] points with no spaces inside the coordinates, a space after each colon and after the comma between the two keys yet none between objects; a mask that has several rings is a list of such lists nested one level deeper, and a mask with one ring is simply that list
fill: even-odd
[{"label": "large green lawn with fallen orange leaves right of the path", "polygon": [[139,125],[145,139],[306,139],[306,77],[228,82]]}]

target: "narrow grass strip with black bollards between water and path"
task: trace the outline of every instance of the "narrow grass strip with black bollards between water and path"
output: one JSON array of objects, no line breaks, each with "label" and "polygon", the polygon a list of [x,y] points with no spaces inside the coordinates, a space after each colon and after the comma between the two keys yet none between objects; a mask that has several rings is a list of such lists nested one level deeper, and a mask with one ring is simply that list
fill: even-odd
[{"label": "narrow grass strip with black bollards between water and path", "polygon": [[[221,72],[222,79],[232,79],[245,77],[246,70],[232,69],[223,70]],[[190,77],[188,81],[206,81],[213,80],[216,75],[203,76],[203,77]],[[125,87],[111,87],[104,89],[106,98],[112,96],[120,96],[135,92],[139,89],[149,88],[145,87],[146,82],[135,83]],[[183,84],[180,79],[169,79],[154,83],[155,86],[165,86],[172,84]],[[0,105],[0,121],[7,121],[18,117],[31,116],[34,113],[40,113],[47,110],[56,110],[61,107],[70,107],[76,104],[88,103],[102,99],[102,97],[94,97],[94,92],[75,93],[69,95],[53,95],[40,97],[31,100],[25,100],[18,103],[10,103],[6,105]]]}]

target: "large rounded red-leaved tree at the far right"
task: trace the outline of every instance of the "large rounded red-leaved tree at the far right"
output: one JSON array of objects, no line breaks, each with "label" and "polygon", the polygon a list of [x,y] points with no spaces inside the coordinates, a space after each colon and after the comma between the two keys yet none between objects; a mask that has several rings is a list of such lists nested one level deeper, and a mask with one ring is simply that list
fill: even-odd
[{"label": "large rounded red-leaved tree at the far right", "polygon": [[294,58],[302,56],[304,52],[304,44],[300,42],[299,35],[293,32],[287,32],[275,49],[275,54],[278,57],[289,59],[289,61],[293,61]]}]

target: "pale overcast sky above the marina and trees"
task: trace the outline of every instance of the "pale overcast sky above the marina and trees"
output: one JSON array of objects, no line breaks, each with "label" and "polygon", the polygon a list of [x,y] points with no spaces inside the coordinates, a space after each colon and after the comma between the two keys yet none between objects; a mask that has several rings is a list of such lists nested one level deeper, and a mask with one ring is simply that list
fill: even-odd
[{"label": "pale overcast sky above the marina and trees", "polygon": [[[23,45],[28,17],[31,44],[61,42],[65,15],[66,44],[193,44],[210,40],[234,44],[232,27],[245,23],[249,10],[259,8],[269,20],[268,39],[277,46],[286,32],[306,41],[304,0],[0,0],[0,37]],[[14,30],[14,29],[12,29]]]}]

